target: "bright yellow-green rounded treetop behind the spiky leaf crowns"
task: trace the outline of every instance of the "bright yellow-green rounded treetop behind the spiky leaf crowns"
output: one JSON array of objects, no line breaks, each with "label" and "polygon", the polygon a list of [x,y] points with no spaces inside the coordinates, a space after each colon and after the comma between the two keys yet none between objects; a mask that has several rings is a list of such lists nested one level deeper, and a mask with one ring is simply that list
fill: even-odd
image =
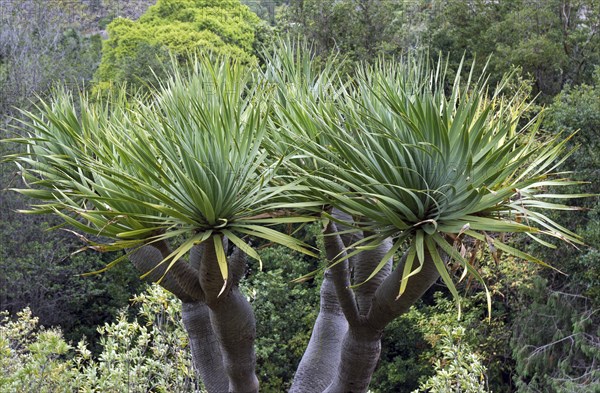
[{"label": "bright yellow-green rounded treetop behind the spiky leaf crowns", "polygon": [[185,58],[207,51],[254,61],[253,45],[261,21],[239,0],[158,0],[137,21],[117,18],[108,27],[96,89],[155,83],[170,55]]}]

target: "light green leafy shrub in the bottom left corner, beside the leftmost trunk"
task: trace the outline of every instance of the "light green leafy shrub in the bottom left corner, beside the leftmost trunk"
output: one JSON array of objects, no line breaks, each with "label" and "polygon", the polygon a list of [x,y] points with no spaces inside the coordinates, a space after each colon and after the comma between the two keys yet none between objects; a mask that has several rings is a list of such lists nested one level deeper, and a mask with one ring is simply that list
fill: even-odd
[{"label": "light green leafy shrub in the bottom left corner, beside the leftmost trunk", "polygon": [[102,352],[69,345],[38,325],[29,309],[0,319],[0,393],[199,392],[181,303],[158,286],[133,298],[138,315],[121,311],[100,332]]}]

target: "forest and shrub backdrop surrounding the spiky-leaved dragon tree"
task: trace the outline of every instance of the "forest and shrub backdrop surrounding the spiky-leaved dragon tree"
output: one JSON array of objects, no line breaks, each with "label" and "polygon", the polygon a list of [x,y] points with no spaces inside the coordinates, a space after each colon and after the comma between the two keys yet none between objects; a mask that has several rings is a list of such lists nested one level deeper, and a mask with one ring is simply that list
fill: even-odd
[{"label": "forest and shrub backdrop surrounding the spiky-leaved dragon tree", "polygon": [[[56,84],[99,93],[123,82],[131,89],[144,89],[164,77],[161,73],[167,72],[164,65],[169,53],[182,54],[199,46],[260,62],[260,48],[277,35],[292,34],[309,40],[321,58],[339,53],[349,69],[352,62],[424,51],[432,58],[438,54],[447,57],[450,70],[458,69],[463,57],[467,64],[476,59],[476,73],[487,64],[492,83],[507,72],[516,72],[515,83],[528,86],[531,99],[535,98],[531,116],[545,108],[545,135],[578,131],[570,143],[579,148],[562,169],[574,171],[574,179],[589,181],[580,186],[584,192],[600,191],[597,1],[161,1],[173,8],[184,3],[196,3],[194,7],[223,3],[221,14],[207,13],[206,20],[196,24],[200,27],[181,31],[176,30],[181,21],[173,14],[152,14],[149,7],[154,3],[0,1],[0,138],[12,136],[12,126],[20,116],[16,108],[31,109],[38,97],[52,94]],[[234,19],[243,16],[243,24],[220,23],[232,15]],[[138,22],[132,22],[135,20]],[[175,33],[161,35],[157,31]],[[151,68],[155,72],[150,72]],[[15,145],[0,144],[0,155],[15,149]],[[21,374],[15,371],[17,365],[2,360],[0,368],[5,370],[0,371],[29,381],[31,387],[23,390],[29,391],[43,383],[56,383],[52,373],[39,369],[60,370],[60,362],[78,351],[87,354],[88,362],[96,359],[94,375],[116,375],[110,371],[110,363],[134,362],[123,357],[123,343],[139,343],[136,340],[143,336],[148,321],[154,323],[152,329],[158,329],[150,331],[155,334],[154,345],[170,346],[173,367],[185,364],[172,360],[180,356],[177,340],[158,339],[162,333],[178,329],[174,302],[156,289],[147,292],[139,273],[126,263],[100,275],[80,276],[101,269],[118,256],[77,253],[82,247],[77,236],[47,230],[58,224],[52,217],[17,213],[28,200],[7,190],[18,187],[20,181],[14,166],[0,166],[0,310],[7,310],[0,320],[0,349],[17,336],[27,343]],[[470,299],[460,321],[448,290],[437,284],[386,330],[372,391],[411,392],[420,386],[444,391],[435,390],[432,378],[459,378],[465,372],[484,375],[485,389],[494,392],[599,391],[600,204],[598,198],[576,203],[584,209],[557,213],[555,219],[583,236],[588,246],[552,250],[512,239],[535,248],[546,262],[567,275],[514,263],[507,257],[481,258],[477,268],[493,292],[491,323],[484,322],[485,300],[477,283],[466,280],[460,284],[461,294]],[[318,232],[318,228],[307,230],[305,240],[318,242]],[[296,285],[290,281],[316,268],[319,261],[290,256],[277,247],[265,247],[261,255],[263,270],[251,266],[244,285],[259,320],[262,390],[278,392],[289,386],[318,304],[317,281]],[[124,309],[134,295],[138,295],[137,303]],[[26,308],[30,314],[21,312]],[[10,322],[18,315],[17,322]],[[157,321],[156,315],[170,316],[172,321]],[[43,336],[51,331],[39,330],[39,326],[58,327],[61,335]],[[15,333],[19,329],[20,333]],[[84,337],[87,348],[76,350]],[[48,352],[36,352],[31,346],[36,342],[42,342]],[[449,351],[458,354],[449,356]],[[157,355],[148,349],[140,350],[138,356],[152,360]],[[144,361],[140,359],[135,361],[141,364]],[[482,368],[475,370],[475,363]],[[79,371],[92,372],[90,364],[81,365]],[[3,381],[6,386],[11,382],[2,378],[0,391]],[[179,382],[193,391],[195,385],[189,380]],[[149,389],[129,386],[130,391]]]}]

